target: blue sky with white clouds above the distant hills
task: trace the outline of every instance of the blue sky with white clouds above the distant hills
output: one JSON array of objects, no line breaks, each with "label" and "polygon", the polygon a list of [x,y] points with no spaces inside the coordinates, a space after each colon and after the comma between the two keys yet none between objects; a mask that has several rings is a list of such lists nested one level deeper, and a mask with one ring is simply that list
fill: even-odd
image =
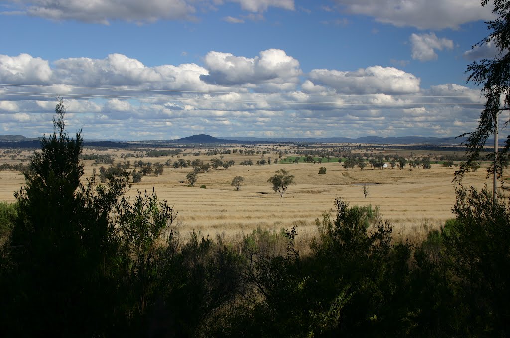
[{"label": "blue sky with white clouds above the distant hills", "polygon": [[492,18],[479,0],[4,0],[0,133],[51,131],[58,93],[89,138],[457,136]]}]

